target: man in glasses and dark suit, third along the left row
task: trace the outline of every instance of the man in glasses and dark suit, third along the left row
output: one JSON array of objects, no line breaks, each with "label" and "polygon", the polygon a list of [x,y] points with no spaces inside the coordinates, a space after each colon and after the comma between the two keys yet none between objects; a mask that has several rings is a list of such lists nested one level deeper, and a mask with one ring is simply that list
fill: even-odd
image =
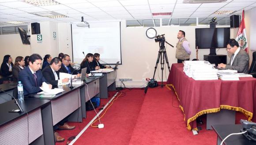
[{"label": "man in glasses and dark suit, third along the left row", "polygon": [[60,68],[59,72],[64,72],[64,73],[69,73],[69,74],[73,74],[76,75],[76,77],[80,77],[81,74],[79,74],[79,72],[77,70],[75,70],[71,65],[70,65],[70,57],[68,54],[64,54],[62,56],[62,65]]}]

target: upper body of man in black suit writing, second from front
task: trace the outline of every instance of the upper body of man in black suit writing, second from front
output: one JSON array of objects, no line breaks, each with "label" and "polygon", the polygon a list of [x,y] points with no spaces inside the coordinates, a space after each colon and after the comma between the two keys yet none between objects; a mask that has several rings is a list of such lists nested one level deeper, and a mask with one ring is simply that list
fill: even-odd
[{"label": "upper body of man in black suit writing, second from front", "polygon": [[64,78],[63,80],[60,80],[60,70],[61,67],[61,61],[59,58],[53,58],[50,62],[50,65],[46,66],[43,70],[43,76],[45,79],[53,86],[57,86],[61,83],[68,82],[68,78]]}]

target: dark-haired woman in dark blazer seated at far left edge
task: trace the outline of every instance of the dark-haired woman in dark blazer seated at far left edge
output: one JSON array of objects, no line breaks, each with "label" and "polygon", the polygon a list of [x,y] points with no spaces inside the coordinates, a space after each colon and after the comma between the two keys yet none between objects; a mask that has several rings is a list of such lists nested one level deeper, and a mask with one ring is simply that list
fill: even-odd
[{"label": "dark-haired woman in dark blazer seated at far left edge", "polygon": [[1,65],[1,75],[10,76],[13,67],[11,55],[5,55]]}]

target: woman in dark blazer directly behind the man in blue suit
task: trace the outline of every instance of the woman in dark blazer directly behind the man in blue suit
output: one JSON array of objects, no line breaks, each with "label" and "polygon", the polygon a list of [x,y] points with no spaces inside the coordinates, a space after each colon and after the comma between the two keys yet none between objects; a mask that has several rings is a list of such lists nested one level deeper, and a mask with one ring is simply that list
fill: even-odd
[{"label": "woman in dark blazer directly behind the man in blue suit", "polygon": [[14,82],[18,82],[19,72],[25,67],[25,61],[22,56],[15,58],[14,66],[12,68],[12,78]]}]

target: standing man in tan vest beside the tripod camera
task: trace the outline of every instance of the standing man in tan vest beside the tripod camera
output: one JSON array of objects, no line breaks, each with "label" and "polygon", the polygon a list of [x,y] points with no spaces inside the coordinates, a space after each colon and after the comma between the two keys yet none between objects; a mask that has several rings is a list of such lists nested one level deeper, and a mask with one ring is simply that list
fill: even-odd
[{"label": "standing man in tan vest beside the tripod camera", "polygon": [[177,38],[179,39],[176,45],[176,58],[178,59],[177,63],[182,63],[185,60],[189,60],[191,50],[189,48],[188,40],[185,38],[185,32],[179,30]]}]

